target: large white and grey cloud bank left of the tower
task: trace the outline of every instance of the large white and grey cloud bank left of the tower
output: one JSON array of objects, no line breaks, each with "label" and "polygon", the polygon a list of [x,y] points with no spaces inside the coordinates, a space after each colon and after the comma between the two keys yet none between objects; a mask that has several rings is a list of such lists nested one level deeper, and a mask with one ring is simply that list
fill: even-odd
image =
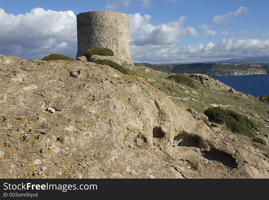
[{"label": "large white and grey cloud bank left of the tower", "polygon": [[0,9],[0,54],[40,59],[50,53],[76,56],[76,16],[73,11],[32,9],[14,16]]}]

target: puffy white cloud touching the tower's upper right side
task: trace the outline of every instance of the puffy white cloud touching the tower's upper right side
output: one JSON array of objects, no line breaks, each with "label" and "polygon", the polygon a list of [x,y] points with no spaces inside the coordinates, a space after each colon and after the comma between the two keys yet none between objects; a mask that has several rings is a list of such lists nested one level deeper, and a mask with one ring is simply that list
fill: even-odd
[{"label": "puffy white cloud touching the tower's upper right side", "polygon": [[152,25],[151,16],[140,13],[129,15],[130,17],[130,45],[175,45],[180,42],[183,35],[196,36],[198,32],[193,27],[183,27],[185,16],[167,24]]}]

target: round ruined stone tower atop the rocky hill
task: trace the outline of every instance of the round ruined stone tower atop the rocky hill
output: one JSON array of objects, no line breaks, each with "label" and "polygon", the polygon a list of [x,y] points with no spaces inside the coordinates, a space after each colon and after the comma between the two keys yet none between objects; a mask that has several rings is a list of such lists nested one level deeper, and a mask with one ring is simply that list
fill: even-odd
[{"label": "round ruined stone tower atop the rocky hill", "polygon": [[110,11],[93,11],[77,15],[77,56],[94,47],[114,51],[123,63],[133,64],[129,50],[129,16]]}]

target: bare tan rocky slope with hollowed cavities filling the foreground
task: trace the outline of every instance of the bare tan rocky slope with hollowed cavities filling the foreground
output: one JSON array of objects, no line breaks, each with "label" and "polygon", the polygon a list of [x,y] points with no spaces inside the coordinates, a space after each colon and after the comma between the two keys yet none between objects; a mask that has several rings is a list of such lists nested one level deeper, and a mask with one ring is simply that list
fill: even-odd
[{"label": "bare tan rocky slope with hollowed cavities filling the foreground", "polygon": [[269,178],[259,149],[149,79],[4,56],[0,72],[1,178]]}]

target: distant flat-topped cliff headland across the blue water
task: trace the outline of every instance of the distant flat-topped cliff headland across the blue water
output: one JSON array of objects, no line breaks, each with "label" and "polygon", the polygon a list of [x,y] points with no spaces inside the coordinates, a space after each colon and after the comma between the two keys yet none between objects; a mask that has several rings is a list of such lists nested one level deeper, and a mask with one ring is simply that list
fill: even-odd
[{"label": "distant flat-topped cliff headland across the blue water", "polygon": [[167,73],[201,73],[208,76],[250,76],[267,74],[259,64],[253,63],[191,63],[177,65],[146,65]]}]

